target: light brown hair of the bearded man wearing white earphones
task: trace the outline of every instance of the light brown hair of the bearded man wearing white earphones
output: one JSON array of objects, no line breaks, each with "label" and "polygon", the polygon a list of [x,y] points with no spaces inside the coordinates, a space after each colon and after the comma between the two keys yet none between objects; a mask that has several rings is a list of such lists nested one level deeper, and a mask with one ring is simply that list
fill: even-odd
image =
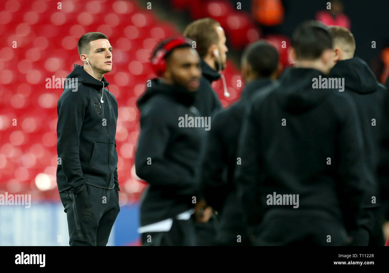
[{"label": "light brown hair of the bearded man wearing white earphones", "polygon": [[220,23],[211,18],[202,18],[190,23],[184,30],[184,37],[196,41],[196,50],[205,57],[211,45],[219,43],[216,28]]}]

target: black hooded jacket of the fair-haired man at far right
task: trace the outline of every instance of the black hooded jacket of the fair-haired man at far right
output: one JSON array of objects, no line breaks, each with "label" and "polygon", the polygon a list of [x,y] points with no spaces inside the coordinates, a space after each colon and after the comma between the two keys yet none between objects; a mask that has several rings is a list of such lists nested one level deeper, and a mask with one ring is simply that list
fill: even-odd
[{"label": "black hooded jacket of the fair-haired man at far right", "polygon": [[366,175],[370,176],[368,181],[372,181],[369,187],[370,200],[371,196],[377,198],[376,203],[370,202],[368,207],[377,207],[381,205],[377,181],[380,138],[383,127],[387,126],[387,121],[383,119],[386,88],[377,82],[373,71],[359,57],[338,61],[329,77],[344,78],[345,91],[352,96],[357,106],[363,133],[364,158],[369,170]]}]

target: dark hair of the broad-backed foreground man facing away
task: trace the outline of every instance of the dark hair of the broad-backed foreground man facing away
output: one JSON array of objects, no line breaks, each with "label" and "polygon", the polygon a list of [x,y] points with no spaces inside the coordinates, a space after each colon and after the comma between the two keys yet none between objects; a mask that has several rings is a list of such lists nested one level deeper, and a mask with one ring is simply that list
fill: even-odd
[{"label": "dark hair of the broad-backed foreground man facing away", "polygon": [[297,59],[315,60],[324,50],[332,49],[331,31],[318,21],[306,21],[294,30],[291,45]]}]

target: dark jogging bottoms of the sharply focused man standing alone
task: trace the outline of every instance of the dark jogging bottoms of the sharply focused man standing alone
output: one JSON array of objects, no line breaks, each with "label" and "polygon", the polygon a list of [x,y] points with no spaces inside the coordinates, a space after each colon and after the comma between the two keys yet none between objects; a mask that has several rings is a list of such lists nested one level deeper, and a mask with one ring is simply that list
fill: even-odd
[{"label": "dark jogging bottoms of the sharply focused man standing alone", "polygon": [[105,246],[119,214],[116,189],[105,190],[86,184],[77,195],[60,193],[68,219],[70,246]]}]

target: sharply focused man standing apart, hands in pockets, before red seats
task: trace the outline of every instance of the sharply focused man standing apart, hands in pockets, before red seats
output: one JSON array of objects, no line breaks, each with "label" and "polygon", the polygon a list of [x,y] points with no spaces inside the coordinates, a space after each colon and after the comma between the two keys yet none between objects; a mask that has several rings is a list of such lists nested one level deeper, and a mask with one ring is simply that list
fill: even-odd
[{"label": "sharply focused man standing apart, hands in pockets, before red seats", "polygon": [[103,77],[112,69],[107,36],[81,36],[74,65],[58,100],[57,184],[68,219],[71,246],[105,246],[119,207],[117,101]]}]

